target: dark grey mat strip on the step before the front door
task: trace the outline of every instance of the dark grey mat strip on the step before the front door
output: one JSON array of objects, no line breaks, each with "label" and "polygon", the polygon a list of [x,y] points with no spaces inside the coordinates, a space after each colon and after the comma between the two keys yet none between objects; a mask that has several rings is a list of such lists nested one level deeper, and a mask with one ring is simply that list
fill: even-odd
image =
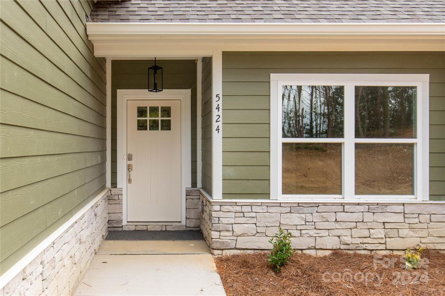
[{"label": "dark grey mat strip on the step before the front door", "polygon": [[105,240],[204,240],[200,230],[130,230],[130,231],[108,231]]}]

